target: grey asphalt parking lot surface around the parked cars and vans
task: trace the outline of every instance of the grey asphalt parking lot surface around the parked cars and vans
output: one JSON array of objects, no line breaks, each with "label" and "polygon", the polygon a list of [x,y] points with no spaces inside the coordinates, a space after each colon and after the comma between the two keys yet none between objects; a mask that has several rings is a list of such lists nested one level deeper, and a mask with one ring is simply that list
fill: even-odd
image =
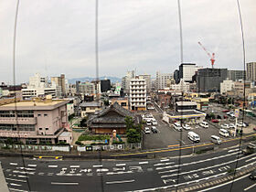
[{"label": "grey asphalt parking lot surface around the parked cars and vans", "polygon": [[[227,115],[225,112],[222,112],[224,109],[221,109],[219,106],[213,106],[213,109],[210,111],[215,111],[215,114],[220,116]],[[157,121],[156,128],[159,130],[158,133],[144,133],[144,149],[156,149],[156,148],[167,148],[172,147],[176,144],[179,144],[180,136],[182,136],[182,144],[194,144],[190,139],[187,138],[187,133],[189,131],[195,132],[200,137],[200,143],[210,142],[211,135],[217,135],[221,139],[225,137],[219,135],[219,129],[223,123],[235,123],[230,122],[228,119],[221,119],[219,123],[209,123],[208,128],[203,128],[198,125],[190,125],[191,130],[187,131],[182,129],[182,132],[178,132],[174,129],[173,124],[167,124],[162,121],[162,112],[156,112],[156,110],[150,110],[153,114],[155,120]],[[240,122],[240,120],[239,120]],[[253,127],[255,127],[255,121],[251,118],[245,117],[244,122],[249,123],[249,127],[243,129],[243,133],[253,133]],[[151,126],[148,126],[151,129]],[[229,129],[231,130],[231,129]],[[230,138],[230,137],[229,137]]]}]

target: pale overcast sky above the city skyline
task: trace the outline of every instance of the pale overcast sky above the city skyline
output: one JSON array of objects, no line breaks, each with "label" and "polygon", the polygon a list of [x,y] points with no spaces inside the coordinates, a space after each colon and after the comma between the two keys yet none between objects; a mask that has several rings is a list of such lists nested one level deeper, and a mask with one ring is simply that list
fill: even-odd
[{"label": "pale overcast sky above the city skyline", "polygon": [[[184,62],[243,69],[236,0],[180,0]],[[256,2],[240,1],[246,62],[256,61]],[[0,1],[0,82],[13,82],[16,0]],[[172,73],[181,63],[176,0],[99,0],[99,74],[127,70]],[[95,77],[95,0],[21,0],[16,30],[16,82],[39,72]]]}]

